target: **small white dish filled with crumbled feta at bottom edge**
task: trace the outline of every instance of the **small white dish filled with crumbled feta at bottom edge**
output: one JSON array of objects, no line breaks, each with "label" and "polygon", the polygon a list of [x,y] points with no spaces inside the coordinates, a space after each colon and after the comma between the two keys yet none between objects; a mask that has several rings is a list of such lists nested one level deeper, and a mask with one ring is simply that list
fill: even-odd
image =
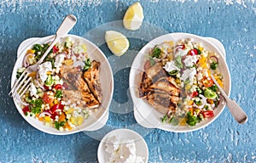
[{"label": "small white dish filled with crumbled feta at bottom edge", "polygon": [[137,132],[120,128],[102,138],[97,156],[99,163],[146,163],[148,146]]}]

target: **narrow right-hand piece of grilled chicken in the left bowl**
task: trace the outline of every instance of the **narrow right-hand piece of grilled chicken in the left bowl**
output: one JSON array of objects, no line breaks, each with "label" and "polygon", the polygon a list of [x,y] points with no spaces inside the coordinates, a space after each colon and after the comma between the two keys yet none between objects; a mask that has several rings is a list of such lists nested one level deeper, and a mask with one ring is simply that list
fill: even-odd
[{"label": "narrow right-hand piece of grilled chicken in the left bowl", "polygon": [[100,63],[93,60],[89,70],[84,72],[84,80],[87,82],[91,93],[102,103],[102,87],[100,82]]}]

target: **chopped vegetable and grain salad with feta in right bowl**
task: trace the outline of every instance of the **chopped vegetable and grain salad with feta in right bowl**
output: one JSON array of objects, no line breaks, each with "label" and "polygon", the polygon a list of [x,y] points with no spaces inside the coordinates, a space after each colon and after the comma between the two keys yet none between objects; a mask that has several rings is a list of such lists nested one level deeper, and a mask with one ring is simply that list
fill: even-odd
[{"label": "chopped vegetable and grain salad with feta in right bowl", "polygon": [[[168,97],[171,97],[172,107],[168,108],[161,118],[163,123],[195,126],[214,116],[214,110],[218,108],[222,97],[218,87],[212,81],[211,74],[220,87],[224,87],[223,76],[218,69],[219,56],[215,52],[204,48],[202,43],[193,42],[187,38],[178,42],[170,41],[156,45],[149,49],[147,56],[145,71],[150,72],[154,65],[160,64],[166,72],[166,78],[169,81],[173,79],[175,82],[168,82],[175,88],[171,90],[178,89],[179,93],[177,104],[174,100],[175,96],[167,93]],[[154,85],[156,84],[153,82],[149,88]],[[154,87],[154,92],[151,91],[151,94],[156,94],[156,92],[160,92],[160,85]],[[163,91],[160,92],[162,93]],[[150,98],[150,93],[148,94]],[[154,103],[151,103],[155,109],[160,107],[160,104],[156,105],[157,101],[155,101],[159,96],[159,94],[155,95]]]}]

